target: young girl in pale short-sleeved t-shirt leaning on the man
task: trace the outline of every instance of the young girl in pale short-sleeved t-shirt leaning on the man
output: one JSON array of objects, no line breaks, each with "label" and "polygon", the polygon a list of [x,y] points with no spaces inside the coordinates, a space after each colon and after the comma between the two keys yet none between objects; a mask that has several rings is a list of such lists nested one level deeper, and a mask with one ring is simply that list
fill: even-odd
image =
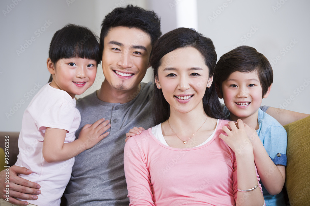
[{"label": "young girl in pale short-sleeved t-shirt leaning on the man", "polygon": [[[52,81],[42,87],[24,112],[15,165],[33,171],[22,178],[41,185],[38,200],[30,205],[60,205],[69,182],[74,156],[106,137],[108,120],[85,125],[75,140],[81,116],[75,95],[95,81],[100,62],[99,44],[86,27],[69,24],[57,31],[50,44],[47,69]],[[105,132],[105,133],[104,133]],[[11,205],[1,200],[1,205]]]}]

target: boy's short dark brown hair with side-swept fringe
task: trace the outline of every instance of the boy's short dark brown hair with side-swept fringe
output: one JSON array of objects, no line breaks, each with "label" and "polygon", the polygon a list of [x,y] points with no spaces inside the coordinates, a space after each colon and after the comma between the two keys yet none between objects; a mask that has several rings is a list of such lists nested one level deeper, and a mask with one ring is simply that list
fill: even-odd
[{"label": "boy's short dark brown hair with side-swept fringe", "polygon": [[253,47],[240,46],[219,58],[215,66],[214,81],[222,94],[222,83],[235,71],[257,71],[264,96],[273,82],[272,67],[268,59]]}]

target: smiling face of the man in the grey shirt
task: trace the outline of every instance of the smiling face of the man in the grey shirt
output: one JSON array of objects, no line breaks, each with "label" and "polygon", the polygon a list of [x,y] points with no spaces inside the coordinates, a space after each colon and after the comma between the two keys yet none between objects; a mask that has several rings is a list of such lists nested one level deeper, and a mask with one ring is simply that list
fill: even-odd
[{"label": "smiling face of the man in the grey shirt", "polygon": [[149,67],[150,36],[136,28],[114,27],[104,38],[104,81],[117,90],[136,90]]}]

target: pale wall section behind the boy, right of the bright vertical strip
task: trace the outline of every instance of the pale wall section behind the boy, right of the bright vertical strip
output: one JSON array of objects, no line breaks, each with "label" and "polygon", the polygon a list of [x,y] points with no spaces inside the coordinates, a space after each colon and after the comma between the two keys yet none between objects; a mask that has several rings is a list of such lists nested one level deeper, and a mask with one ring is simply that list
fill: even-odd
[{"label": "pale wall section behind the boy, right of the bright vertical strip", "polygon": [[249,45],[272,64],[272,90],[263,104],[310,114],[310,2],[197,0],[199,32],[213,40],[218,59]]}]

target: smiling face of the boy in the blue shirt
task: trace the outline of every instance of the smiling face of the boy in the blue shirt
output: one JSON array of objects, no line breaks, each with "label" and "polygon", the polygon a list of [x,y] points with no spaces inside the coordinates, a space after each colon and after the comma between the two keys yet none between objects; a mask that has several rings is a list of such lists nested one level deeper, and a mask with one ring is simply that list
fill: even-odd
[{"label": "smiling face of the boy in the blue shirt", "polygon": [[[263,98],[267,98],[270,88]],[[257,118],[262,103],[263,89],[257,71],[233,72],[222,83],[225,106],[230,111],[232,120],[253,116]]]}]

